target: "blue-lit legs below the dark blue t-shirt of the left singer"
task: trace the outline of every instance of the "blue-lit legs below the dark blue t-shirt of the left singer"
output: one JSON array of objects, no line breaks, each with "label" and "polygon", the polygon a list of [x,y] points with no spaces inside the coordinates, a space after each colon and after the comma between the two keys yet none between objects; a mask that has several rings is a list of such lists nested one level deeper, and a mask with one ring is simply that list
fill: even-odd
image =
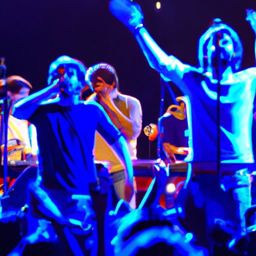
[{"label": "blue-lit legs below the dark blue t-shirt of the left singer", "polygon": [[[96,228],[89,195],[72,195],[66,190],[48,192],[30,186],[30,201],[33,214],[51,221],[55,233],[67,255],[96,255]],[[61,202],[57,204],[57,202]]]}]

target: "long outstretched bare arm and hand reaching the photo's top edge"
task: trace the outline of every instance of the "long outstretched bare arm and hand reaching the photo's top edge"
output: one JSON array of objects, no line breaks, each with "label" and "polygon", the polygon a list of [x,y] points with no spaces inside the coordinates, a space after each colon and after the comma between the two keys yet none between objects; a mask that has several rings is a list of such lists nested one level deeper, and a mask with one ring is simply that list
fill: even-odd
[{"label": "long outstretched bare arm and hand reaching the photo's top edge", "polygon": [[[181,79],[184,65],[173,56],[168,56],[153,40],[143,25],[143,13],[137,3],[130,0],[110,0],[110,12],[133,33],[149,65],[165,80]],[[179,81],[176,80],[178,83]]]}]

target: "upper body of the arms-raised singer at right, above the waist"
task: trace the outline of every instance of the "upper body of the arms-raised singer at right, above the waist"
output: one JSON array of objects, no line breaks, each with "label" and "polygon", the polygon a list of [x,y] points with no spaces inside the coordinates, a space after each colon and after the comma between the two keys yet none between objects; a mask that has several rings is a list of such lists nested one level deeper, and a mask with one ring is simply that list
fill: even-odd
[{"label": "upper body of the arms-raised singer at right, above the waist", "polygon": [[[123,15],[123,10],[117,4],[119,1],[123,4],[127,2],[111,0],[110,11],[125,24],[129,16],[127,13],[126,16]],[[132,3],[129,2],[130,4]],[[139,15],[138,12],[136,15]],[[247,12],[247,19],[251,15]],[[157,70],[162,78],[174,82],[189,99],[186,104],[189,109],[188,145],[193,148],[193,155],[188,156],[187,160],[216,161],[217,159],[216,112],[219,77],[221,162],[253,162],[251,123],[256,68],[239,71],[242,45],[236,32],[220,20],[216,20],[199,39],[199,67],[194,67],[182,63],[172,55],[168,56],[158,46],[142,25],[142,13],[137,20],[141,20],[141,23],[133,25],[133,34],[149,65]],[[250,23],[252,26],[252,22]],[[256,30],[255,26],[252,28]],[[207,61],[203,59],[204,56],[207,57]],[[217,65],[216,56],[219,56]],[[216,66],[219,70],[218,77]]]}]

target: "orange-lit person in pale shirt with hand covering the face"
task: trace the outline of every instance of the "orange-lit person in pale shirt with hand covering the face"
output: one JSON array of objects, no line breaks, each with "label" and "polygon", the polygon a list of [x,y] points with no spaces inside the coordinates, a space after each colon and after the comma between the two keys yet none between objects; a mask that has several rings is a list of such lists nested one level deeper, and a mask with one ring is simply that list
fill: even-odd
[{"label": "orange-lit person in pale shirt with hand covering the face", "polygon": [[[97,63],[88,68],[85,79],[94,90],[87,100],[98,102],[107,112],[113,124],[126,139],[131,159],[136,159],[137,137],[141,131],[142,110],[138,99],[121,94],[115,69],[107,63]],[[120,199],[125,199],[125,172],[109,145],[96,133],[95,158],[110,162],[110,177]],[[132,174],[128,173],[132,182]]]}]

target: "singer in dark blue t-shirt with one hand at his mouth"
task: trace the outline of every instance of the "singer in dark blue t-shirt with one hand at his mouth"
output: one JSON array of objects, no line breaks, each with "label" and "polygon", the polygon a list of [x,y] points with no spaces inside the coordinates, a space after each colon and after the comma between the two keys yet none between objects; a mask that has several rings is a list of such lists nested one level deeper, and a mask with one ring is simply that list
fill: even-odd
[{"label": "singer in dark blue t-shirt with one hand at his mouth", "polygon": [[[13,111],[37,128],[39,163],[37,180],[29,185],[30,217],[51,222],[66,255],[96,255],[90,196],[97,188],[92,155],[96,130],[125,172],[133,172],[126,141],[103,108],[79,100],[85,72],[79,60],[58,57],[50,64],[48,86],[17,102]],[[133,184],[127,180],[125,199],[132,193]]]}]

